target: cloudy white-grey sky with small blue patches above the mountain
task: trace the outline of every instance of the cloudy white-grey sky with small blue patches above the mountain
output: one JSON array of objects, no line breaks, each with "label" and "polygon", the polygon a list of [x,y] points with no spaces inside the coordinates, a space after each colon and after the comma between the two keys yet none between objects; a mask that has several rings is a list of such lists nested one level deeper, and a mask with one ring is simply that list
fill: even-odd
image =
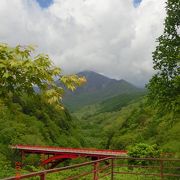
[{"label": "cloudy white-grey sky with small blue patches above the mountain", "polygon": [[142,86],[165,0],[0,0],[0,42],[33,44],[65,73],[92,70]]}]

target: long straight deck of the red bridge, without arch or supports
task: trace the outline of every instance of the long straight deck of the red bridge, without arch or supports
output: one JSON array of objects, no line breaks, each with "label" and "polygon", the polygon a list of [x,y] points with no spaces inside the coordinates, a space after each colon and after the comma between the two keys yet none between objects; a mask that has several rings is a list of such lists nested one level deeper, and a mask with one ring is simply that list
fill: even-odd
[{"label": "long straight deck of the red bridge, without arch or supports", "polygon": [[12,149],[18,149],[25,153],[39,153],[39,154],[79,154],[79,155],[98,155],[98,156],[124,156],[127,151],[124,150],[100,150],[89,148],[64,148],[64,147],[49,147],[49,146],[27,146],[14,145]]}]

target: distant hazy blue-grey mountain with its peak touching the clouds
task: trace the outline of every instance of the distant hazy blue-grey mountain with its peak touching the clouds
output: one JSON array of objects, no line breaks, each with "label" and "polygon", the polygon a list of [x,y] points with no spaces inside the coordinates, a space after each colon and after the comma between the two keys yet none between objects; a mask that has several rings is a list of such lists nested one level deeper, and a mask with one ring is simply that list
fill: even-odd
[{"label": "distant hazy blue-grey mountain with its peak touching the clouds", "polygon": [[67,91],[64,104],[72,111],[116,95],[144,91],[123,79],[110,79],[93,71],[83,71],[77,75],[85,76],[87,83],[74,92]]}]

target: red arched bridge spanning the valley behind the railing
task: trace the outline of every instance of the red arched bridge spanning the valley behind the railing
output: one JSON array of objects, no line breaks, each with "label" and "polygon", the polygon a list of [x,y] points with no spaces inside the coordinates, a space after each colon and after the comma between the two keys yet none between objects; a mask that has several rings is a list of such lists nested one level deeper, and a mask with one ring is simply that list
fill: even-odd
[{"label": "red arched bridge spanning the valley behind the railing", "polygon": [[41,154],[40,164],[47,168],[54,168],[60,162],[66,159],[75,159],[79,157],[91,158],[98,160],[107,157],[126,156],[127,151],[124,150],[99,150],[85,148],[64,148],[64,147],[49,147],[49,146],[27,146],[15,145],[12,149],[17,149],[21,152],[22,160],[26,154]]}]

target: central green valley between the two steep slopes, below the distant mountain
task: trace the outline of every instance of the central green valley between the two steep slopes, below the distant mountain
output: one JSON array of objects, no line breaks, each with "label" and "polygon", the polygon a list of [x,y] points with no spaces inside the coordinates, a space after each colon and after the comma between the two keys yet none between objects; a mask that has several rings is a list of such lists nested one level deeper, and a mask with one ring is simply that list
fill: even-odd
[{"label": "central green valley between the two steep slopes, below the distant mountain", "polygon": [[[74,113],[80,119],[84,134],[83,145],[86,147],[110,148],[114,138],[114,122],[119,117],[120,110],[127,104],[131,104],[132,101],[139,100],[143,95],[144,93],[131,93],[114,96],[99,104],[85,106]],[[122,144],[122,139],[118,137],[116,140],[117,148],[124,149],[125,144]],[[135,136],[132,135],[131,137]],[[120,141],[122,145],[120,145]],[[123,142],[125,141],[126,139]]]}]

